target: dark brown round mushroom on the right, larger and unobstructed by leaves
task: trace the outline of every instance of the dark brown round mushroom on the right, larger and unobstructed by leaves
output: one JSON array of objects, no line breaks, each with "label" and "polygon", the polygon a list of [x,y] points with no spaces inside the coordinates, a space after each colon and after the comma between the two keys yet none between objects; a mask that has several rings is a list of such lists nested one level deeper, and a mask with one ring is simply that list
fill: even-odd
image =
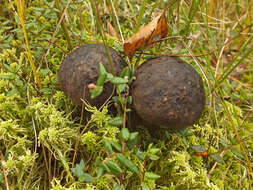
[{"label": "dark brown round mushroom on the right, larger and unobstructed by leaves", "polygon": [[174,57],[144,62],[132,85],[133,106],[146,122],[180,130],[194,124],[205,106],[203,82],[195,69]]}]

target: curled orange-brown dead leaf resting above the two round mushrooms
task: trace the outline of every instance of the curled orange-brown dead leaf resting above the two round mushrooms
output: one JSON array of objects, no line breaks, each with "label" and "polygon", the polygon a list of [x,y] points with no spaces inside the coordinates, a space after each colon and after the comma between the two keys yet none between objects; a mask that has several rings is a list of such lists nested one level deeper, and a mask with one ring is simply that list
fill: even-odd
[{"label": "curled orange-brown dead leaf resting above the two round mushrooms", "polygon": [[136,50],[151,45],[157,39],[166,37],[167,33],[166,16],[161,13],[124,43],[124,53],[131,58]]}]

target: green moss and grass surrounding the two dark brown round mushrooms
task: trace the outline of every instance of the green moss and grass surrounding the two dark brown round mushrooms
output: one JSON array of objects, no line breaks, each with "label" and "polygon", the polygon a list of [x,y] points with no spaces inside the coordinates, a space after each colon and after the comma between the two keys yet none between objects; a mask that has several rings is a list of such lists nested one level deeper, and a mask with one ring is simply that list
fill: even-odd
[{"label": "green moss and grass surrounding the two dark brown round mushrooms", "polygon": [[[201,119],[152,136],[116,126],[107,106],[86,105],[86,119],[59,89],[64,57],[98,42],[123,54],[123,40],[166,6],[167,38],[131,64],[166,54],[193,65],[206,88]],[[252,189],[252,9],[250,0],[1,0],[0,189]]]}]

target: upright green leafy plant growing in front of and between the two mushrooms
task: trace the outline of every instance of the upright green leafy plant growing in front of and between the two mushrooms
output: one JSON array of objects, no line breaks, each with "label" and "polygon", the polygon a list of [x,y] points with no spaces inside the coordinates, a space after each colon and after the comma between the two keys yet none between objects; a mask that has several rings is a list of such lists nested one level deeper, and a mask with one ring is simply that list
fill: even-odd
[{"label": "upright green leafy plant growing in front of and between the two mushrooms", "polygon": [[[106,82],[111,82],[118,89],[118,95],[114,96],[113,100],[118,105],[122,105],[124,115],[127,111],[131,111],[127,105],[131,105],[131,99],[127,95],[122,96],[122,92],[127,88],[127,85],[130,85],[134,80],[134,70],[126,67],[124,68],[120,76],[113,76],[111,73],[108,73],[103,64],[99,64],[99,78],[97,84],[94,88],[90,89],[91,97],[96,98],[103,91],[103,85]],[[130,100],[130,101],[129,101]],[[106,174],[113,175],[116,178],[116,184],[114,184],[113,189],[125,189],[126,185],[124,184],[124,176],[128,175],[130,172],[131,175],[135,175],[139,178],[139,186],[142,189],[149,189],[147,180],[159,179],[160,176],[151,171],[147,171],[146,163],[149,160],[158,160],[159,156],[157,155],[160,151],[159,148],[154,148],[152,144],[148,146],[147,151],[141,151],[138,147],[139,144],[139,133],[130,132],[126,127],[126,118],[124,116],[116,116],[108,120],[108,124],[116,127],[120,127],[120,133],[118,134],[115,140],[104,138],[104,148],[106,150],[106,157],[101,160],[97,158],[96,170],[97,177],[100,179]],[[135,162],[132,160],[134,159]],[[143,165],[137,166],[135,163],[141,163]],[[81,182],[92,182],[92,177],[88,173],[84,173],[85,165],[83,160],[80,164],[77,164],[75,168],[72,168],[72,172],[78,176],[78,180]]]}]

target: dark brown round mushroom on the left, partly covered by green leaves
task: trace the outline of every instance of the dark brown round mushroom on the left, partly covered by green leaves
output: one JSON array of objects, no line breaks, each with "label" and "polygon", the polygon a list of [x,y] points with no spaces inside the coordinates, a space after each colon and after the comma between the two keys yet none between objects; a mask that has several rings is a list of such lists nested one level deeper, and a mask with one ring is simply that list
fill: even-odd
[{"label": "dark brown round mushroom on the left, partly covered by green leaves", "polygon": [[[120,54],[111,47],[108,47],[112,57],[116,74],[127,65]],[[85,99],[97,107],[110,97],[113,91],[111,83],[104,84],[103,93],[95,99],[90,98],[88,84],[94,83],[99,77],[99,63],[104,64],[107,72],[112,73],[111,65],[103,44],[85,44],[72,51],[64,59],[58,72],[58,80],[63,92],[75,103],[82,105],[80,98]],[[85,93],[84,93],[85,92]]]}]

